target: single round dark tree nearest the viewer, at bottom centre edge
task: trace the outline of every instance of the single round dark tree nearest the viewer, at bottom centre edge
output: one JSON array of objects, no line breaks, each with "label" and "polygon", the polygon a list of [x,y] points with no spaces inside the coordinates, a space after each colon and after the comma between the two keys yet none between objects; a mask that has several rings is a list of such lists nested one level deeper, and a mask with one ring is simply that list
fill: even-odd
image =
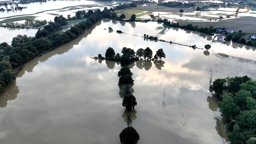
[{"label": "single round dark tree nearest the viewer, at bottom centre edge", "polygon": [[122,144],[136,144],[140,140],[138,132],[133,127],[125,128],[119,134],[119,138]]}]

